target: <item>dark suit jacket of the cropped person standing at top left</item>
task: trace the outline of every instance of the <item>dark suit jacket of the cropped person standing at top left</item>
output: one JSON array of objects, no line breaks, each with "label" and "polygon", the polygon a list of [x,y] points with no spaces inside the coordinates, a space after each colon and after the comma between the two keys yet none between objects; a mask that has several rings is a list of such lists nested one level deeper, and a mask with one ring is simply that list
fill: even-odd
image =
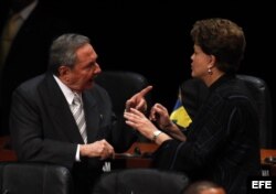
[{"label": "dark suit jacket of the cropped person standing at top left", "polygon": [[[3,12],[0,13],[0,34],[10,13],[9,8],[1,9]],[[44,2],[39,2],[20,28],[6,64],[0,69],[0,134],[9,133],[8,116],[12,90],[20,83],[46,71],[52,41],[70,31],[68,21]]]}]

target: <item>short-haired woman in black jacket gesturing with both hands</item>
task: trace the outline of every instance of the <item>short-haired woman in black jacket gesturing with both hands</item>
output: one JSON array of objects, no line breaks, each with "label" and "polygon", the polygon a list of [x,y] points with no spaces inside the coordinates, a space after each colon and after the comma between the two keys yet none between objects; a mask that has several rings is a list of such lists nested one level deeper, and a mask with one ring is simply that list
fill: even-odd
[{"label": "short-haired woman in black jacket gesturing with both hands", "polygon": [[191,75],[209,87],[209,96],[185,134],[160,104],[149,117],[156,125],[135,109],[125,112],[126,123],[160,144],[156,168],[183,171],[192,181],[212,181],[227,194],[246,193],[247,176],[258,175],[261,166],[254,100],[235,77],[244,32],[230,20],[206,19],[194,23],[191,36]]}]

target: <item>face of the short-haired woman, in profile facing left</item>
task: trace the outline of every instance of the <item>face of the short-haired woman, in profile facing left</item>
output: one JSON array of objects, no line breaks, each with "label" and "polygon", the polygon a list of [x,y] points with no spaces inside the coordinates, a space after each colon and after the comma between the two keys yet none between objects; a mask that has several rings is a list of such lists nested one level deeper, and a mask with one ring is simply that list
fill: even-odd
[{"label": "face of the short-haired woman, in profile facing left", "polygon": [[208,69],[213,66],[211,55],[205,54],[199,45],[194,44],[191,60],[191,76],[204,80],[209,75]]}]

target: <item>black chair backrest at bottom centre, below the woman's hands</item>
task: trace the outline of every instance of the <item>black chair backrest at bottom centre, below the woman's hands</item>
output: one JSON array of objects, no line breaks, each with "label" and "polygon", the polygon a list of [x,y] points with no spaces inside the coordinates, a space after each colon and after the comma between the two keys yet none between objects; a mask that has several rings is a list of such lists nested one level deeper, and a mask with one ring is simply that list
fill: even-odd
[{"label": "black chair backrest at bottom centre, below the woman's hands", "polygon": [[127,169],[103,174],[93,194],[180,194],[189,184],[185,174],[155,169]]}]

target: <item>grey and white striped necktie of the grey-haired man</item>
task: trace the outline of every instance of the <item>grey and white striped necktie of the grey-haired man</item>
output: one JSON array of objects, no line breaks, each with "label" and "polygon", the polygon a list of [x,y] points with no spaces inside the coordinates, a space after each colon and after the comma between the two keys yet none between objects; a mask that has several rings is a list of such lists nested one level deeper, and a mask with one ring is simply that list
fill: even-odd
[{"label": "grey and white striped necktie of the grey-haired man", "polygon": [[84,109],[81,96],[78,94],[74,94],[73,105],[72,105],[72,112],[76,120],[76,125],[78,130],[83,137],[85,143],[87,143],[87,134],[86,134],[86,123],[84,117]]}]

